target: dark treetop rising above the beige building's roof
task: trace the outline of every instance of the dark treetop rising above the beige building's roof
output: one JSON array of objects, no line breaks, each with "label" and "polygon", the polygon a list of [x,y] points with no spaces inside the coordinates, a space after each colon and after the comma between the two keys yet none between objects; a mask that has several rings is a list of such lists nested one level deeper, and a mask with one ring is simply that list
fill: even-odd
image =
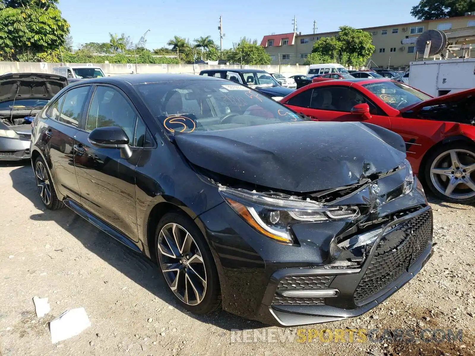
[{"label": "dark treetop rising above the beige building's roof", "polygon": [[471,11],[475,11],[474,0],[421,0],[412,7],[411,15],[418,20],[434,20],[464,16]]}]

